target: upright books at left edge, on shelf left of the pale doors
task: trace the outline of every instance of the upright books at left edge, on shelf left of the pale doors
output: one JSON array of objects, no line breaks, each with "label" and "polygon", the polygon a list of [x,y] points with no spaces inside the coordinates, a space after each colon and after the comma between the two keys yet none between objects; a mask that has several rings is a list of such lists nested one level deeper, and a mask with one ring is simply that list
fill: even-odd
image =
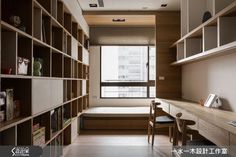
[{"label": "upright books at left edge, on shelf left of the pale doors", "polygon": [[14,90],[0,92],[0,122],[9,121],[20,116],[20,101],[14,100]]}]

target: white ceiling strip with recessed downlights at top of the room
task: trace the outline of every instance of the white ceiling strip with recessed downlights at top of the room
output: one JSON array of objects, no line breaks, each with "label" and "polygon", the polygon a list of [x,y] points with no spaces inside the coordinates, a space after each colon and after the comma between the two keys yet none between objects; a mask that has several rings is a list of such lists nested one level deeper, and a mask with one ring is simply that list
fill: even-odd
[{"label": "white ceiling strip with recessed downlights at top of the room", "polygon": [[[78,0],[84,11],[153,11],[180,10],[180,0],[103,0],[104,7],[90,8],[90,3],[98,4],[97,0]],[[161,4],[167,4],[167,7],[161,8]],[[146,9],[143,9],[146,7]]]}]

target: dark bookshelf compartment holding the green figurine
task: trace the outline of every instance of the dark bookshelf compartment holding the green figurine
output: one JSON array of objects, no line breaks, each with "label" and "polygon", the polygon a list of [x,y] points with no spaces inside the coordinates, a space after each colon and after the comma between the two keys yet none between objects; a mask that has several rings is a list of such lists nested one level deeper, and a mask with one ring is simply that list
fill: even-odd
[{"label": "dark bookshelf compartment holding the green figurine", "polygon": [[[34,76],[44,76],[44,77],[50,77],[50,60],[51,60],[51,50],[48,47],[43,47],[38,45],[37,43],[34,43],[33,47],[33,57],[34,62],[37,60],[38,62],[41,62],[42,68],[41,68],[41,74],[38,72],[38,67],[34,67]],[[35,63],[34,63],[35,64]]]}]

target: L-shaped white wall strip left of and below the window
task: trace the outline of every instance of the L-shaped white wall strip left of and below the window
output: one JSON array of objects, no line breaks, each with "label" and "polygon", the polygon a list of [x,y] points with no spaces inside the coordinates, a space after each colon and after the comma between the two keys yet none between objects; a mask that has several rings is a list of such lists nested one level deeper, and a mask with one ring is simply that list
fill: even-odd
[{"label": "L-shaped white wall strip left of and below the window", "polygon": [[100,46],[90,47],[90,106],[148,106],[151,99],[101,99],[100,98]]}]

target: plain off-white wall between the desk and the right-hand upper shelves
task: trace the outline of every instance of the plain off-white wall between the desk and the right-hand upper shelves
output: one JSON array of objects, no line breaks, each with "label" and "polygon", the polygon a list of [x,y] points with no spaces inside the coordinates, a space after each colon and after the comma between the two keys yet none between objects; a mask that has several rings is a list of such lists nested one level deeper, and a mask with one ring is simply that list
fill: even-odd
[{"label": "plain off-white wall between the desk and the right-hand upper shelves", "polygon": [[224,109],[236,112],[235,53],[183,66],[183,98],[198,102],[210,93],[223,99]]}]

